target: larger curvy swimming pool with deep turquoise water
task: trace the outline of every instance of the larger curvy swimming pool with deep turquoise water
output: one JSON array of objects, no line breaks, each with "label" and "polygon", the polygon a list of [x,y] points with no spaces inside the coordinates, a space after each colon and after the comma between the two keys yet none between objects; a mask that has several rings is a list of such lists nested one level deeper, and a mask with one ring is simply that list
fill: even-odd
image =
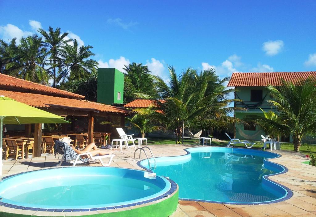
[{"label": "larger curvy swimming pool with deep turquoise water", "polygon": [[[269,203],[291,196],[285,186],[268,177],[283,173],[281,165],[267,161],[279,155],[238,148],[189,148],[187,155],[156,158],[151,171],[173,179],[179,198],[223,203]],[[154,165],[153,159],[150,164]],[[148,160],[139,162],[148,168]]]}]

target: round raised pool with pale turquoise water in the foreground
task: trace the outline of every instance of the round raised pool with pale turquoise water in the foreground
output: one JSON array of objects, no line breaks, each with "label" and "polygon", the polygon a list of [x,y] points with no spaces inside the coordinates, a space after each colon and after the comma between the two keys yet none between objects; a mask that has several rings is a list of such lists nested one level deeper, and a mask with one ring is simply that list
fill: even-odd
[{"label": "round raised pool with pale turquoise water in the foreground", "polygon": [[0,182],[1,202],[34,208],[99,208],[140,202],[170,188],[167,179],[112,167],[64,167],[24,173]]}]

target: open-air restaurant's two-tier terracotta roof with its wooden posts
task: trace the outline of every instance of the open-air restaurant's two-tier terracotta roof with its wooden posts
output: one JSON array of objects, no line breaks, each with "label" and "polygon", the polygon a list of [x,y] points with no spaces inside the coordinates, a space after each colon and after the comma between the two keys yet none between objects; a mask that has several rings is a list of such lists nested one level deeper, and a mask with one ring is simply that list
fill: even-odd
[{"label": "open-air restaurant's two-tier terracotta roof with its wooden posts", "polygon": [[[108,117],[109,114],[120,117],[120,126],[125,125],[128,110],[83,100],[84,96],[40,85],[23,79],[0,74],[0,95],[18,102],[40,108],[60,116],[84,116],[88,118],[88,143],[93,142],[94,117]],[[25,125],[25,136],[31,137],[32,125]],[[66,134],[67,124],[62,124],[62,133]],[[34,127],[34,156],[41,155],[42,124]]]}]

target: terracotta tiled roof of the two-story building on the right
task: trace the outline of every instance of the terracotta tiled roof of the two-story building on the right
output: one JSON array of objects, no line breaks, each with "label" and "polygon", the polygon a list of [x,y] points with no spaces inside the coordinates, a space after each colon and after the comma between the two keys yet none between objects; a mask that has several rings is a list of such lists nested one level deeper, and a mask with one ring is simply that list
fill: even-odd
[{"label": "terracotta tiled roof of the two-story building on the right", "polygon": [[316,72],[234,72],[227,86],[280,86],[281,78],[296,82],[298,79],[307,79],[309,76],[316,77]]}]

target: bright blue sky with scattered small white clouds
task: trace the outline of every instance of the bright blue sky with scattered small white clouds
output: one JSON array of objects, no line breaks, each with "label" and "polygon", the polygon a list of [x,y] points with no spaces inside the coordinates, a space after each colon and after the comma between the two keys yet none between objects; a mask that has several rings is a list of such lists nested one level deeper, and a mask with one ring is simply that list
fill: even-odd
[{"label": "bright blue sky with scattered small white clouds", "polygon": [[60,27],[91,45],[99,67],[131,62],[168,77],[192,67],[316,71],[316,1],[1,1],[0,38]]}]

